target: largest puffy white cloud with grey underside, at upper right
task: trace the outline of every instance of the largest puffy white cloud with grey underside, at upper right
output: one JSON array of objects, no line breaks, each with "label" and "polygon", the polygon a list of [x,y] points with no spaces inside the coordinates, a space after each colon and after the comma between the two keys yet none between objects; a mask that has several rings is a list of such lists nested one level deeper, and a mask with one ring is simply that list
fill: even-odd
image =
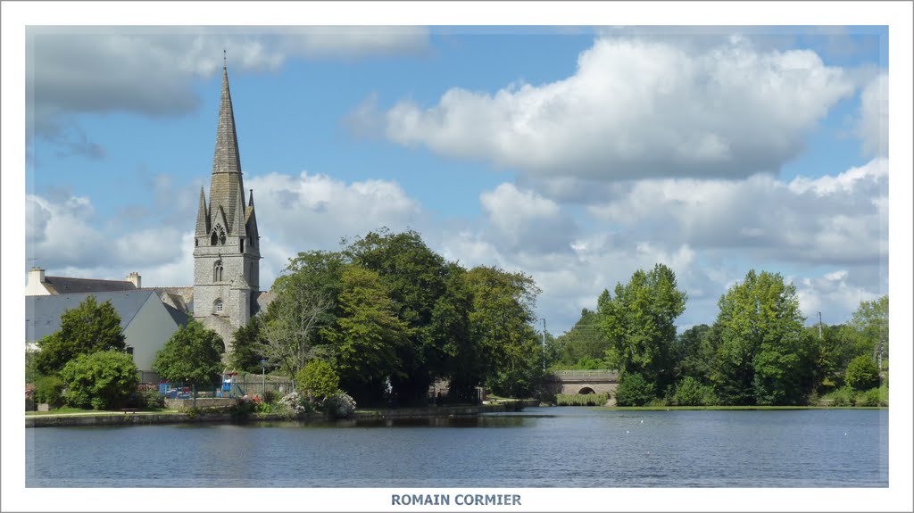
[{"label": "largest puffy white cloud with grey underside, at upper right", "polygon": [[423,108],[401,101],[387,135],[538,176],[748,176],[796,156],[802,138],[854,92],[812,51],[745,39],[687,53],[664,41],[601,38],[577,72],[494,94],[454,88]]}]

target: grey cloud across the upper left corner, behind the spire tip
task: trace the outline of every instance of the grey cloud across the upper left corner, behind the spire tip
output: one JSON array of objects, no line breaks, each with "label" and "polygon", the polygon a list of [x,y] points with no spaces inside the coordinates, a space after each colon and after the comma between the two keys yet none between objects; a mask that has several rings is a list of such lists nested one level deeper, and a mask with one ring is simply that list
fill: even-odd
[{"label": "grey cloud across the upper left corner, behind the spire tip", "polygon": [[[289,58],[417,54],[424,27],[30,27],[28,121],[71,151],[98,156],[73,116],[150,116],[197,107],[194,80],[218,73],[223,50],[236,72],[275,71]],[[27,131],[28,132],[28,131]]]}]

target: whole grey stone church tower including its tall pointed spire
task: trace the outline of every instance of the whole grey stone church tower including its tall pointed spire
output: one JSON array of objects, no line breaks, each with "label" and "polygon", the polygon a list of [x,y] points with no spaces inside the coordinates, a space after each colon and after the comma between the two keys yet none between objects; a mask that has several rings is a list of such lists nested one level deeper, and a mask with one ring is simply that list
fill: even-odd
[{"label": "whole grey stone church tower including its tall pointed spire", "polygon": [[209,202],[200,187],[194,236],[194,319],[215,330],[231,351],[233,333],[248,324],[260,293],[260,236],[254,191],[245,204],[235,115],[222,67],[222,98]]}]

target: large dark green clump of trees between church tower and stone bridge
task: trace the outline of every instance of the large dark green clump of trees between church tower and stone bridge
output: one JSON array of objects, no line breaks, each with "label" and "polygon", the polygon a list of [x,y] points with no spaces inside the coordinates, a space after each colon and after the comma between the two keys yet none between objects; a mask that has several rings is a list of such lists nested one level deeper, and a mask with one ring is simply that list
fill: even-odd
[{"label": "large dark green clump of trees between church tower and stone bridge", "polygon": [[238,369],[267,360],[302,382],[309,361],[325,361],[360,404],[425,403],[437,380],[455,402],[473,402],[481,385],[530,396],[543,381],[533,278],[467,269],[415,231],[299,253],[271,292],[268,309],[235,333]]}]

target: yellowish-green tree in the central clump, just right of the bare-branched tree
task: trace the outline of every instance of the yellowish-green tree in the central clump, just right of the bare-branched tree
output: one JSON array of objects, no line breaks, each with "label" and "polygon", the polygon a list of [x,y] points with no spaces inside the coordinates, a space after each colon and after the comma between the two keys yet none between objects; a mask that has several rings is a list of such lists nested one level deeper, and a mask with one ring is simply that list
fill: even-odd
[{"label": "yellowish-green tree in the central clump, just right of the bare-branched tree", "polygon": [[395,305],[376,272],[351,265],[342,282],[342,317],[337,319],[334,344],[336,367],[345,382],[356,384],[356,390],[374,387],[379,393],[389,376],[401,372],[398,352],[409,340],[409,327],[397,318]]}]

